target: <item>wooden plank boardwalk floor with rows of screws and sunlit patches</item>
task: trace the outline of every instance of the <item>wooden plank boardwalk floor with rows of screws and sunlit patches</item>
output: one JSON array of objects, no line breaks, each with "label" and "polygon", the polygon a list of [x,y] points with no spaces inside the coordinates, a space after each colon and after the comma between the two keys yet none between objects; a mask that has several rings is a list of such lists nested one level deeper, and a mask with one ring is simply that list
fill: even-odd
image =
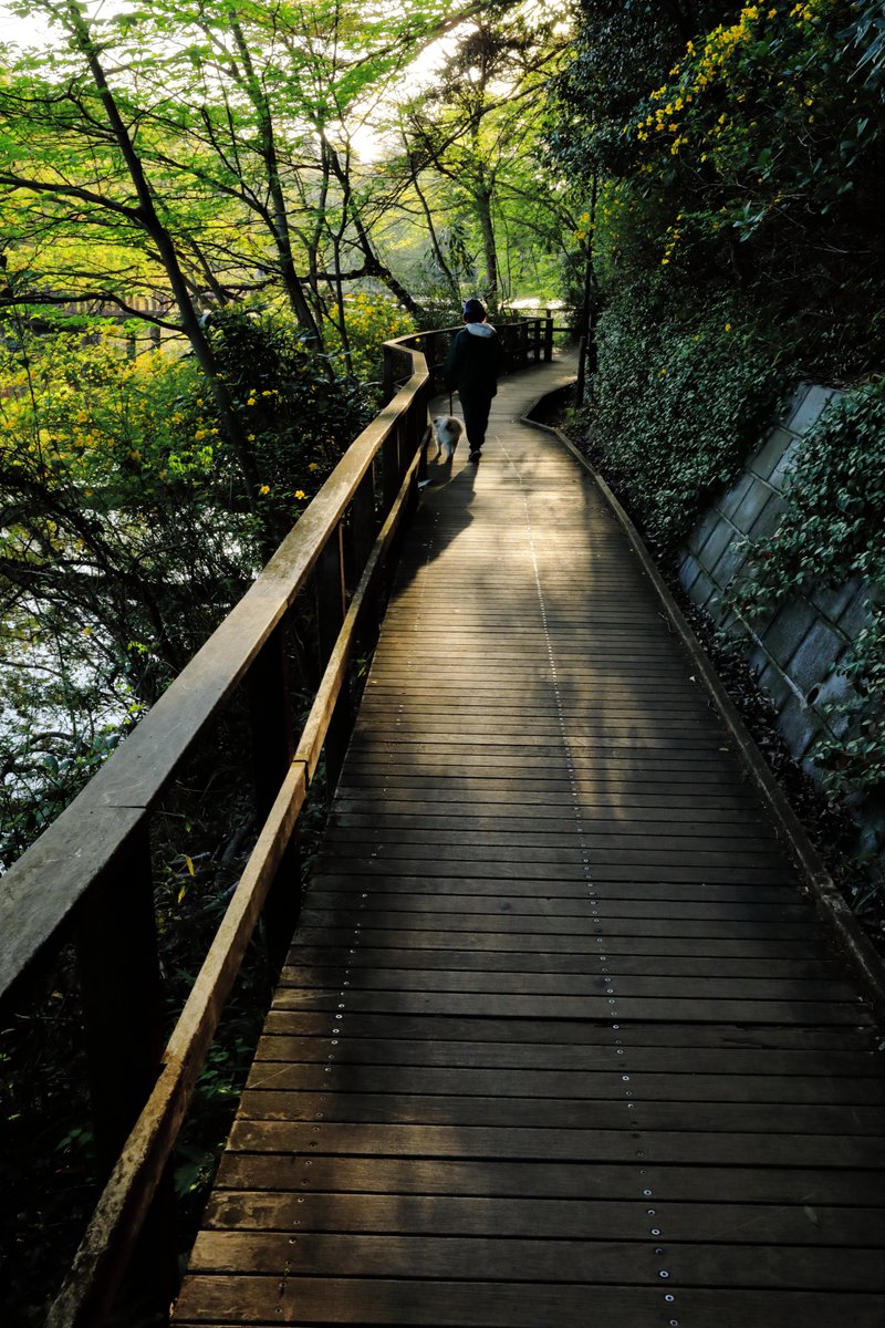
[{"label": "wooden plank boardwalk floor with rows of screws and sunlit patches", "polygon": [[561,372],[430,467],[180,1328],[885,1323],[869,1012]]}]

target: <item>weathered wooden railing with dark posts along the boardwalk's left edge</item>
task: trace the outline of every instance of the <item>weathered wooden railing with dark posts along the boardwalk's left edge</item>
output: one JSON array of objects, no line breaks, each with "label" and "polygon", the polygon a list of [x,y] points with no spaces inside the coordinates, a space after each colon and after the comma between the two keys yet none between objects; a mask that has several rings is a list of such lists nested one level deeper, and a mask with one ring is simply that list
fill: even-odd
[{"label": "weathered wooden railing with dark posts along the boardwalk's left edge", "polygon": [[[64,944],[77,946],[96,1138],[107,1175],[48,1328],[96,1328],[113,1303],[260,918],[277,961],[285,954],[300,892],[297,870],[280,867],[321,753],[330,784],[340,770],[357,632],[417,493],[427,405],[451,331],[386,343],[389,404],[169,691],[0,878],[0,997],[15,1001]],[[549,359],[549,317],[502,335],[512,367]],[[394,390],[403,369],[406,381]],[[324,672],[296,740],[287,632],[309,591]],[[163,1048],[151,814],[241,684],[251,697],[263,827]]]}]

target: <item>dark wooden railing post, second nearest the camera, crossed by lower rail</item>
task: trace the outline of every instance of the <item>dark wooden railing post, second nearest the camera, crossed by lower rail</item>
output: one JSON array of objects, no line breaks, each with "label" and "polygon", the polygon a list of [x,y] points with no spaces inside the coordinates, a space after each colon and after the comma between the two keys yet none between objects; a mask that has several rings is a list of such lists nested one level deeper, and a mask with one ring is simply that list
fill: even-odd
[{"label": "dark wooden railing post, second nearest the camera, crossed by lower rail", "polygon": [[[285,628],[275,628],[259,651],[248,676],[252,724],[252,780],[259,825],[276,801],[295,752]],[[264,942],[273,973],[285,963],[301,910],[301,863],[293,837],[264,900]]]}]

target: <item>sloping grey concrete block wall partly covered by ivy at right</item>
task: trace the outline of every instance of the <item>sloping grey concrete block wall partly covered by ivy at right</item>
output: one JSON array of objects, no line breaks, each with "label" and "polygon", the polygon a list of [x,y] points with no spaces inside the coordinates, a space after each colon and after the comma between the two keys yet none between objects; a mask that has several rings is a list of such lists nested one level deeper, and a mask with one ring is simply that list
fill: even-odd
[{"label": "sloping grey concrete block wall partly covered by ivy at right", "polygon": [[[722,592],[752,558],[752,546],[776,531],[787,473],[832,396],[828,388],[799,388],[743,474],[703,515],[679,563],[679,580],[690,599],[716,623],[746,635],[750,661],[778,708],[787,745],[812,778],[819,778],[819,772],[808,753],[817,734],[839,732],[839,721],[827,716],[824,706],[852,691],[839,661],[869,624],[869,587],[854,579],[836,590],[811,590],[751,627],[728,618]],[[877,829],[885,829],[885,817],[866,807],[861,821],[861,849],[872,847]]]}]

